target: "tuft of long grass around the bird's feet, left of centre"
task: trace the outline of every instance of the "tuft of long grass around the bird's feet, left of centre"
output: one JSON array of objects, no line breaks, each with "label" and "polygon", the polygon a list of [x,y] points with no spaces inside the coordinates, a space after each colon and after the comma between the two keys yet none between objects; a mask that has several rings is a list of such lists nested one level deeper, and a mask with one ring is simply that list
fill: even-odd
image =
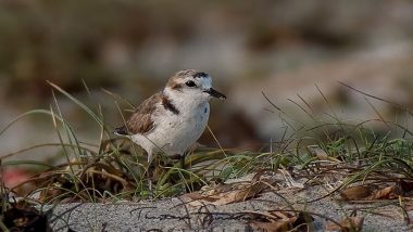
[{"label": "tuft of long grass around the bird's feet, left of centre", "polygon": [[[176,196],[188,191],[199,190],[211,179],[225,181],[228,178],[249,172],[251,168],[248,166],[254,163],[253,153],[241,154],[238,151],[225,151],[222,147],[220,150],[204,149],[189,154],[185,162],[185,166],[189,168],[182,169],[174,160],[160,154],[153,160],[155,189],[150,192],[147,182],[148,164],[142,150],[127,139],[113,136],[113,129],[105,124],[99,104],[88,106],[59,86],[52,82],[49,85],[53,88],[54,100],[54,104],[50,106],[49,111],[35,109],[22,114],[0,131],[1,136],[21,118],[41,114],[51,118],[59,139],[59,143],[38,144],[2,157],[9,158],[40,146],[58,147],[61,151],[60,154],[65,157],[65,162],[59,166],[34,160],[3,163],[3,166],[42,167],[29,180],[11,190],[32,186],[24,197],[34,198],[42,204],[53,204],[57,202],[140,201],[150,196],[155,198]],[[88,91],[86,83],[85,88]],[[54,91],[67,98],[93,120],[100,131],[100,140],[97,144],[86,144],[79,141],[72,124],[62,114]],[[105,92],[115,98],[115,102],[120,100],[116,94]],[[129,104],[129,106],[132,105]],[[228,154],[231,157],[228,157]],[[242,168],[236,175],[229,175],[228,170],[239,167]],[[218,173],[218,177],[211,173]]]}]

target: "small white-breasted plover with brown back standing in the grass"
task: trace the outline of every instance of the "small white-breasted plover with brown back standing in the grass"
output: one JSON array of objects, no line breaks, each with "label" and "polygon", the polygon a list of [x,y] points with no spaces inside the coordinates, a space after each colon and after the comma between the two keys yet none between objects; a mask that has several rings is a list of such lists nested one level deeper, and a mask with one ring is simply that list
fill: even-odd
[{"label": "small white-breasted plover with brown back standing in the grass", "polygon": [[162,91],[145,100],[114,133],[129,138],[148,155],[164,153],[178,156],[184,165],[185,152],[203,133],[210,100],[226,95],[212,88],[212,78],[204,72],[184,69],[174,74]]}]

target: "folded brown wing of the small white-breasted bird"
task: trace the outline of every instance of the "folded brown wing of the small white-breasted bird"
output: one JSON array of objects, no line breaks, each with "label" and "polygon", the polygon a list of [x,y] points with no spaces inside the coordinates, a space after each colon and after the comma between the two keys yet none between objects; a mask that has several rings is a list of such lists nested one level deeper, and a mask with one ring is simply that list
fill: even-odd
[{"label": "folded brown wing of the small white-breasted bird", "polygon": [[117,134],[136,134],[147,133],[154,128],[152,115],[157,108],[157,103],[161,99],[161,93],[157,93],[140,104],[130,118],[127,120],[126,126],[115,129]]}]

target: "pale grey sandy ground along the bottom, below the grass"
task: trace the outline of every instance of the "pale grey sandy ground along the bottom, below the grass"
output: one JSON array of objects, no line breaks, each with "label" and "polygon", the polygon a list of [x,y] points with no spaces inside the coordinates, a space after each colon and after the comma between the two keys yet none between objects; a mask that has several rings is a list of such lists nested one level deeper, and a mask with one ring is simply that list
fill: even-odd
[{"label": "pale grey sandy ground along the bottom, below the grass", "polygon": [[[258,231],[248,224],[251,218],[237,212],[288,209],[288,201],[297,210],[320,214],[337,221],[358,209],[358,216],[364,217],[363,231],[413,230],[404,221],[397,203],[355,205],[339,202],[337,196],[305,203],[327,193],[323,186],[303,190],[287,188],[263,193],[246,202],[202,207],[188,206],[183,198],[118,204],[64,204],[57,206],[53,211],[61,216],[53,228],[55,231],[66,231],[67,227],[74,231]],[[75,209],[66,211],[73,207]],[[326,231],[326,218],[313,217],[311,231]]]}]

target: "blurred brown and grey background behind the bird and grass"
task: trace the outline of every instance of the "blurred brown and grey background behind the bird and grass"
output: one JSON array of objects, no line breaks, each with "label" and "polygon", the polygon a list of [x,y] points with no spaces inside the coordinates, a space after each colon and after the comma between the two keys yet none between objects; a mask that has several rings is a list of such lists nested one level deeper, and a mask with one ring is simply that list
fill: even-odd
[{"label": "blurred brown and grey background behind the bird and grass", "polygon": [[[339,81],[412,107],[412,25],[408,0],[0,0],[0,128],[54,104],[46,80],[101,104],[116,127],[116,100],[102,89],[138,105],[184,68],[209,73],[228,96],[212,102],[210,121],[224,147],[259,149],[288,124],[314,123],[295,102],[323,121],[383,117],[409,127],[409,114]],[[80,140],[98,143],[98,125],[57,98]],[[57,141],[50,117],[29,117],[1,134],[0,153]],[[208,132],[201,143],[217,146]]]}]

